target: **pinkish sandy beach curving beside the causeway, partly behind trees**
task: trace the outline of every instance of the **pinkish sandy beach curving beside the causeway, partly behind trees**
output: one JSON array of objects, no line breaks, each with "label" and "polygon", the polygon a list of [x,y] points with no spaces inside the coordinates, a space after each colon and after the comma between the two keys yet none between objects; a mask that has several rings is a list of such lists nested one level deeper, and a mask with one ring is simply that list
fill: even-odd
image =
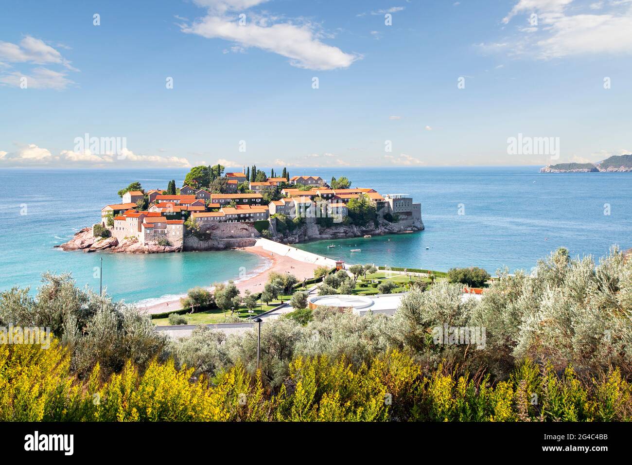
[{"label": "pinkish sandy beach curving beside the causeway, partly behind trees", "polygon": [[[290,257],[281,256],[273,252],[265,251],[263,247],[243,247],[235,250],[257,254],[258,256],[267,259],[270,264],[268,268],[261,271],[257,275],[251,276],[250,278],[247,278],[245,280],[241,280],[240,282],[236,282],[237,288],[240,290],[241,294],[243,294],[246,289],[249,289],[250,292],[253,293],[261,292],[268,280],[270,272],[272,271],[276,271],[277,273],[289,272],[292,275],[295,275],[299,281],[302,281],[305,278],[313,278],[313,271],[318,267],[318,265],[312,263],[305,263],[303,261],[298,261]],[[181,309],[181,306],[179,299],[174,299],[173,301],[161,302],[159,304],[139,308],[146,313],[155,314],[165,313],[168,311],[177,311]]]}]

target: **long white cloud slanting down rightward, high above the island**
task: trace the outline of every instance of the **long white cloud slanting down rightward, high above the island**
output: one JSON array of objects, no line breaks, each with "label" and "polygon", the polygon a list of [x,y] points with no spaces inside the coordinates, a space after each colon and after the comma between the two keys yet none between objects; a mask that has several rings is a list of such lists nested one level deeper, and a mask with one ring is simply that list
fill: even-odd
[{"label": "long white cloud slanting down rightward, high above the island", "polygon": [[224,39],[236,42],[240,47],[257,47],[290,59],[289,64],[310,70],[334,70],[348,68],[360,58],[357,54],[344,53],[338,47],[319,40],[310,24],[294,25],[264,22],[246,22],[240,26],[234,18],[208,15],[181,28],[187,34],[197,34],[207,39]]}]

